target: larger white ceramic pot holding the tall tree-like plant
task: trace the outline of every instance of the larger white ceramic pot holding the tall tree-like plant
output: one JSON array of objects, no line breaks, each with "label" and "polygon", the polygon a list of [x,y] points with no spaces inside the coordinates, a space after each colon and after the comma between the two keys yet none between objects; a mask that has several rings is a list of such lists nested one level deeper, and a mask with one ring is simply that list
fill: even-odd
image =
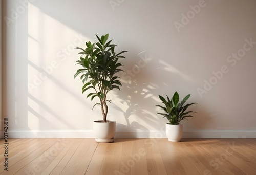
[{"label": "larger white ceramic pot holding the tall tree-like plant", "polygon": [[102,120],[93,122],[93,132],[95,141],[99,143],[114,142],[116,132],[116,121],[102,122]]}]

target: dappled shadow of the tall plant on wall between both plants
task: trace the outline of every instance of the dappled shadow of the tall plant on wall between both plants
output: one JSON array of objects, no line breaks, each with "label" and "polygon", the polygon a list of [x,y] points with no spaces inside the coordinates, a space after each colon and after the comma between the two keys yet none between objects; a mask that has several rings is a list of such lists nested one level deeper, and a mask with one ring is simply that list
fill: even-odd
[{"label": "dappled shadow of the tall plant on wall between both plants", "polygon": [[[132,49],[130,49],[132,50]],[[134,51],[131,51],[134,53]],[[151,83],[153,72],[150,62],[152,56],[147,51],[138,55],[130,55],[124,63],[124,72],[120,73],[122,87],[117,95],[119,100],[113,102],[115,108],[121,111],[125,117],[125,124],[118,124],[119,130],[148,130],[148,127],[155,127],[159,124],[154,120],[153,114],[148,108],[154,104],[154,91],[157,86]],[[136,136],[134,136],[136,137]]]}]

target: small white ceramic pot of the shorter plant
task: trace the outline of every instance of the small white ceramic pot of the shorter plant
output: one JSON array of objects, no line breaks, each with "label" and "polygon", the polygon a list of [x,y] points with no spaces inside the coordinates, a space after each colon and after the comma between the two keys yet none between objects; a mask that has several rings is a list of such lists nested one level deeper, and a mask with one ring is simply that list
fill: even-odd
[{"label": "small white ceramic pot of the shorter plant", "polygon": [[183,124],[168,124],[166,123],[166,136],[168,141],[180,142],[183,135]]}]

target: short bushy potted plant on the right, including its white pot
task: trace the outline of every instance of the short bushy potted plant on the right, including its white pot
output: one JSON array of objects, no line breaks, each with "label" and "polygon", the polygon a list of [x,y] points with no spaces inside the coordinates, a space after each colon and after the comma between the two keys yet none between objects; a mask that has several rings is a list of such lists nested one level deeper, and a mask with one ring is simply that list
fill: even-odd
[{"label": "short bushy potted plant on the right, including its white pot", "polygon": [[[165,94],[166,95],[166,94]],[[164,110],[164,113],[157,113],[164,117],[166,117],[169,123],[166,123],[166,136],[168,141],[172,142],[180,142],[183,134],[183,124],[180,123],[182,120],[187,120],[187,117],[193,117],[189,115],[189,113],[193,113],[194,111],[186,111],[187,108],[196,103],[188,103],[184,105],[184,103],[190,97],[188,94],[182,101],[179,102],[179,94],[177,92],[174,93],[172,99],[166,95],[167,99],[159,95],[160,100],[164,103],[164,106],[156,105],[161,107]]]}]

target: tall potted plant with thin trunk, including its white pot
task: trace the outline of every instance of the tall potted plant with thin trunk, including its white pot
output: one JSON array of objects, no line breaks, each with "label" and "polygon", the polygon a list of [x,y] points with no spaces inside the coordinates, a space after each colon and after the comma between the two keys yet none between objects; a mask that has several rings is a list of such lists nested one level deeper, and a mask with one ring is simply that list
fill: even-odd
[{"label": "tall potted plant with thin trunk, including its white pot", "polygon": [[[100,38],[96,35],[98,42],[91,43],[86,42],[86,48],[82,49],[78,53],[80,59],[77,60],[77,64],[82,68],[78,69],[74,75],[76,78],[80,75],[82,80],[82,94],[87,92],[87,98],[98,98],[99,102],[95,105],[101,106],[101,112],[103,119],[94,121],[93,128],[95,133],[95,140],[100,143],[109,143],[114,141],[114,135],[116,130],[116,122],[107,120],[108,104],[111,102],[107,99],[108,93],[113,89],[120,90],[121,82],[120,77],[116,76],[116,73],[122,71],[120,67],[122,64],[118,62],[119,58],[125,58],[121,54],[127,51],[122,51],[118,54],[115,52],[115,46],[108,41],[109,34],[102,35]],[[93,106],[93,108],[94,108]]]}]

